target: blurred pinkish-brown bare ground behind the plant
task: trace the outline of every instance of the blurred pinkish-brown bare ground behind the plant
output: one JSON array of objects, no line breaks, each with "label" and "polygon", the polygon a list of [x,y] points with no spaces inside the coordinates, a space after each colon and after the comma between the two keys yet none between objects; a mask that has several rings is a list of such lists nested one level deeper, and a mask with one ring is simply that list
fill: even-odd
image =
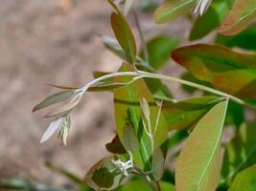
[{"label": "blurred pinkish-brown bare ground behind the plant", "polygon": [[[71,2],[71,4],[69,4]],[[54,92],[42,82],[81,86],[94,70],[120,65],[98,34],[111,34],[111,9],[105,0],[1,0],[0,6],[0,178],[19,175],[56,183],[45,160],[83,176],[108,155],[114,135],[112,96],[87,94],[72,113],[68,147],[58,138],[39,145],[50,121],[32,107]],[[185,36],[188,22],[156,26],[151,14],[140,15],[147,38],[158,32]],[[180,26],[179,23],[182,23]],[[174,65],[167,73],[178,74]],[[177,89],[176,86],[174,86]],[[179,97],[180,98],[180,97]]]}]

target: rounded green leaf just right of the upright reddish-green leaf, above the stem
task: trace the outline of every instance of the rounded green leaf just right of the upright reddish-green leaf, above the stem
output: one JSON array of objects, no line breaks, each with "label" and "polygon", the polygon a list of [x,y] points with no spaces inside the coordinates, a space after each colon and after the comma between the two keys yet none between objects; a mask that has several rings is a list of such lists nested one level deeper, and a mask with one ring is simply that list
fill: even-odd
[{"label": "rounded green leaf just right of the upright reddish-green leaf, above the stem", "polygon": [[[174,36],[157,36],[147,42],[147,50],[149,53],[149,64],[157,70],[163,67],[168,59],[170,53],[175,49],[178,44],[178,39]],[[141,57],[145,59],[144,53],[140,53]]]}]

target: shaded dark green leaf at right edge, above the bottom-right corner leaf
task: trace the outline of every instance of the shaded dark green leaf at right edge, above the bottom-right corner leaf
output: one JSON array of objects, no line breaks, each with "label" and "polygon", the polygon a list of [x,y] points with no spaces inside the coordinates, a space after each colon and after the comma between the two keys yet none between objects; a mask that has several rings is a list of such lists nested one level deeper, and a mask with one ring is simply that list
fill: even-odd
[{"label": "shaded dark green leaf at right edge, above the bottom-right corner leaf", "polygon": [[227,145],[224,153],[221,184],[230,181],[244,168],[256,163],[256,124],[243,124]]}]

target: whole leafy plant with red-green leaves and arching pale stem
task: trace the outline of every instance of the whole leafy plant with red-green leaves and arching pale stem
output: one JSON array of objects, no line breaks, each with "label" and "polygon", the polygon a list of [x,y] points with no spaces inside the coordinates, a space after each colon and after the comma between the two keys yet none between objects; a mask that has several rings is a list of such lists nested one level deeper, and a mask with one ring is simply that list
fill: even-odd
[{"label": "whole leafy plant with red-green leaves and arching pale stem", "polygon": [[[179,48],[174,36],[145,41],[136,11],[130,10],[135,3],[132,0],[107,2],[113,9],[110,25],[115,38],[102,39],[123,63],[117,72],[93,73],[94,78],[82,87],[51,85],[60,92],[45,98],[33,111],[60,102],[63,106],[45,116],[52,122],[40,142],[58,132],[66,145],[70,114],[82,96],[108,91],[114,97],[116,136],[105,145],[111,155],[86,173],[84,182],[89,187],[117,191],[256,190],[256,123],[244,117],[254,116],[256,108],[256,28],[251,26],[256,1],[165,0],[154,11],[156,23],[192,15],[191,41],[218,31],[216,45],[194,43]],[[129,27],[129,14],[134,14],[141,50]],[[187,71],[180,78],[157,73],[170,53]],[[201,96],[178,100],[165,83],[179,83],[184,91],[197,91]],[[233,128],[234,138],[223,142],[222,130],[227,126]],[[177,149],[180,143],[181,149]],[[167,156],[174,148],[175,169],[171,170]],[[167,179],[168,173],[175,179]]]}]

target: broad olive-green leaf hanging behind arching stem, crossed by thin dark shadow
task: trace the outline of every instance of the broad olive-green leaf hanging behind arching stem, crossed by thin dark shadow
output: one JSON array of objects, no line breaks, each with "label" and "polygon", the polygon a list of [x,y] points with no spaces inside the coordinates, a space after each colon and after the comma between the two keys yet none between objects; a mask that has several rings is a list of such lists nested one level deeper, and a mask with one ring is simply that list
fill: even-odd
[{"label": "broad olive-green leaf hanging behind arching stem, crossed by thin dark shadow", "polygon": [[[131,67],[124,64],[120,69],[122,72],[131,71]],[[117,78],[117,82],[127,82],[129,76]],[[139,79],[128,86],[118,89],[114,92],[115,101],[115,120],[116,129],[121,142],[124,144],[124,127],[129,122],[134,127],[135,134],[140,141],[139,151],[133,153],[134,162],[138,167],[146,171],[151,170],[152,151],[158,147],[163,149],[163,154],[166,156],[168,131],[166,121],[163,115],[160,115],[156,131],[153,136],[153,148],[151,148],[151,138],[145,132],[141,121],[140,101],[145,98],[150,104],[151,111],[151,127],[156,126],[156,118],[159,108],[155,104],[151,92],[149,91],[144,79]]]}]

